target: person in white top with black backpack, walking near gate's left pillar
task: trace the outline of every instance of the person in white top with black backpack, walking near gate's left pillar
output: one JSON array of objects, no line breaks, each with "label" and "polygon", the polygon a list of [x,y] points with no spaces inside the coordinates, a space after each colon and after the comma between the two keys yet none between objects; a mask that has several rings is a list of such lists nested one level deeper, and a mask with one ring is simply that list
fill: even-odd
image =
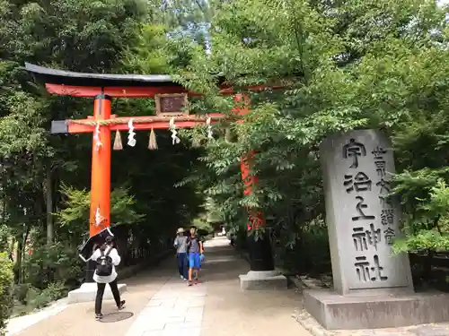
[{"label": "person in white top with black backpack, walking near gate's left pillar", "polygon": [[108,236],[104,244],[94,246],[94,251],[90,259],[97,262],[95,272],[93,273],[93,280],[97,283],[95,318],[101,320],[103,317],[103,314],[101,314],[101,304],[107,283],[110,285],[110,290],[114,296],[117,308],[121,310],[125,307],[125,300],[120,300],[119,288],[117,286],[117,271],[115,270],[115,266],[119,265],[121,258],[117,249],[114,247],[114,237]]}]

